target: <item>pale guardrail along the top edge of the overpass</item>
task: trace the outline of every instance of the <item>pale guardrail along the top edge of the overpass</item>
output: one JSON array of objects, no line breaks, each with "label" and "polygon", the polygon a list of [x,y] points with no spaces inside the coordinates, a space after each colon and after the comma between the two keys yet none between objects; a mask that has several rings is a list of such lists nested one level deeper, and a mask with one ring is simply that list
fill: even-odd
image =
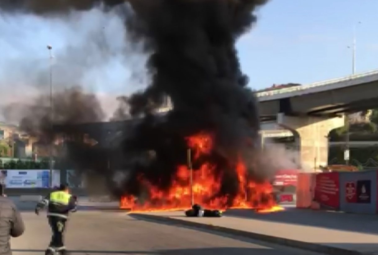
[{"label": "pale guardrail along the top edge of the overpass", "polygon": [[293,86],[293,87],[289,87],[289,88],[281,88],[281,89],[270,90],[270,91],[262,91],[262,92],[256,93],[256,96],[257,97],[264,97],[264,96],[272,96],[272,95],[276,95],[276,94],[290,93],[290,92],[299,91],[299,90],[307,90],[309,88],[320,87],[320,86],[324,86],[324,85],[328,85],[328,84],[332,84],[332,83],[336,83],[336,82],[343,82],[343,81],[346,81],[346,80],[352,80],[352,79],[356,79],[356,78],[367,77],[367,76],[370,76],[370,75],[373,75],[373,74],[378,74],[378,70],[372,70],[372,71],[368,71],[366,73],[344,76],[344,77],[341,77],[341,78],[324,80],[322,82],[314,82],[314,83],[311,83],[311,84],[308,84],[308,85]]}]

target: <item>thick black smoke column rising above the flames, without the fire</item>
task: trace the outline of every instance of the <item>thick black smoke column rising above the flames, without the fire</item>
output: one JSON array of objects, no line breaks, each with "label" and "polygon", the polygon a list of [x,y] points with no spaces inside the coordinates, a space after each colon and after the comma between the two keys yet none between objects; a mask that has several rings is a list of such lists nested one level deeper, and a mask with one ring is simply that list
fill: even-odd
[{"label": "thick black smoke column rising above the flames, without the fire", "polygon": [[[112,8],[123,2],[2,0],[0,8],[44,15],[87,10],[99,3]],[[136,126],[124,128],[127,136],[117,152],[122,155],[117,164],[130,172],[122,193],[140,195],[141,175],[153,185],[167,189],[177,165],[186,163],[185,137],[206,132],[214,137],[214,150],[194,162],[194,167],[201,161],[217,165],[217,173],[223,178],[221,194],[216,195],[228,194],[232,200],[237,193],[235,164],[239,157],[247,163],[251,178],[266,177],[256,167],[256,99],[246,87],[248,77],[240,70],[235,42],[256,22],[254,11],[267,0],[128,2],[133,12],[125,12],[125,26],[132,34],[130,40],[144,42],[146,53],[152,52],[147,63],[152,82],[145,91],[127,100],[131,115],[145,118]],[[154,116],[167,95],[174,110],[164,117]],[[76,161],[83,165],[90,162],[88,155],[96,155],[91,151],[79,157],[78,148],[73,151]],[[135,160],[140,158],[143,160]],[[103,163],[98,165],[103,167]]]}]

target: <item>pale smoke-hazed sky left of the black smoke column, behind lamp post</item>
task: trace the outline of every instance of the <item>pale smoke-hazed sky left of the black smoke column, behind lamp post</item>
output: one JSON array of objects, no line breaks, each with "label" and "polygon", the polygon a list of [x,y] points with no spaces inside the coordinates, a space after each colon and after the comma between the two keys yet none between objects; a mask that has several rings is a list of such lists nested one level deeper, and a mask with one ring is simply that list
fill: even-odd
[{"label": "pale smoke-hazed sky left of the black smoke column, behind lamp post", "polygon": [[[0,8],[5,4],[1,1]],[[97,5],[52,17],[0,9],[0,120],[17,124],[25,108],[49,94],[47,44],[53,47],[53,90],[80,86],[84,93],[95,93],[104,120],[118,106],[117,96],[146,87],[146,55],[138,44],[128,43],[119,15],[124,8],[105,12]]]}]

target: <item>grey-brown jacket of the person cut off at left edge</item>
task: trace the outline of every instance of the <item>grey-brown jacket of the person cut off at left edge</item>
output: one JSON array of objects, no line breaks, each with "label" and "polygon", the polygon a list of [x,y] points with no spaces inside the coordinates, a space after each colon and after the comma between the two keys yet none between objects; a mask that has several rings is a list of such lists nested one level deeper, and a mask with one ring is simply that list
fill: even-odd
[{"label": "grey-brown jacket of the person cut off at left edge", "polygon": [[9,240],[25,231],[21,214],[11,199],[0,196],[0,255],[12,255]]}]

